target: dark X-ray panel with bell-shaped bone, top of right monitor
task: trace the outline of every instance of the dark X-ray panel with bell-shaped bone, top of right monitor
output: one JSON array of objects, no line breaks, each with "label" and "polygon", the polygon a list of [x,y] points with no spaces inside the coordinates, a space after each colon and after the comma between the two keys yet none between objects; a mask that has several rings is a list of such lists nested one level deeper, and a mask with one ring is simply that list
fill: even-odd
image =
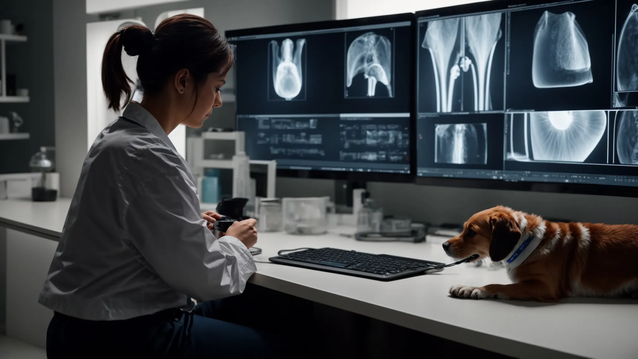
[{"label": "dark X-ray panel with bell-shaped bone, top of right monitor", "polygon": [[579,1],[508,17],[508,111],[611,107],[614,6]]}]

